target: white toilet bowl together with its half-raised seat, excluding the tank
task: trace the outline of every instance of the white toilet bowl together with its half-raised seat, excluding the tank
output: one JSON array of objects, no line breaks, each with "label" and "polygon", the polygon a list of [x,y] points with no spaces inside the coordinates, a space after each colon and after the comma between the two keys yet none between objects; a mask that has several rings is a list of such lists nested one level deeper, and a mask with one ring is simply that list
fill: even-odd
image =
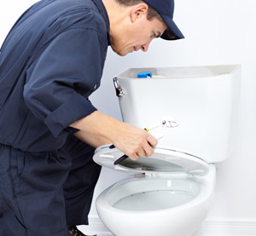
[{"label": "white toilet bowl together with its half-raised seat, excluding the tank", "polygon": [[[207,216],[215,186],[215,167],[186,153],[154,148],[154,155],[132,161],[117,149],[96,149],[96,163],[143,173],[113,184],[96,199],[102,222],[114,235],[187,236]],[[185,226],[185,227],[184,227]]]}]

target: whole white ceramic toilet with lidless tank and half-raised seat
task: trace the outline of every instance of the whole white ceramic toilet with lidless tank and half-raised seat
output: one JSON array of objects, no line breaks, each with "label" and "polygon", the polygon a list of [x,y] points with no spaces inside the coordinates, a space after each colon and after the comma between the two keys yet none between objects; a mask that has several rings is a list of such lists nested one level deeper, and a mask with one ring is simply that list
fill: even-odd
[{"label": "whole white ceramic toilet with lidless tank and half-raised seat", "polygon": [[[154,155],[113,164],[123,153],[96,149],[97,164],[134,173],[96,199],[116,236],[189,236],[207,217],[215,163],[230,156],[240,66],[133,68],[114,78],[125,122],[159,138]],[[137,78],[151,72],[152,78]]]}]

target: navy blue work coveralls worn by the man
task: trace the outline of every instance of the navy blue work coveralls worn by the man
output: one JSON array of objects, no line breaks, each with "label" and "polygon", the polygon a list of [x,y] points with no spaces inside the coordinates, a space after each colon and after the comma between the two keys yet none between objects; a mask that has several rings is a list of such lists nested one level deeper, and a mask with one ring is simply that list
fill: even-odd
[{"label": "navy blue work coveralls worn by the man", "polygon": [[0,235],[64,236],[88,223],[101,168],[68,127],[96,111],[109,37],[101,0],[42,0],[0,55]]}]

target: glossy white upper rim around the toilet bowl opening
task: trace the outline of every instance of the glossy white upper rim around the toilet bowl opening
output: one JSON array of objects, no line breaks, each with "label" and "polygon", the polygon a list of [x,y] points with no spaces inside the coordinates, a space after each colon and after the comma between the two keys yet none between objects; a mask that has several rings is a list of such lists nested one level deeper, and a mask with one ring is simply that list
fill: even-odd
[{"label": "glossy white upper rim around the toilet bowl opening", "polygon": [[[205,176],[205,177],[195,177],[195,179],[189,179],[189,180],[182,177],[181,179],[183,181],[193,181],[200,188],[200,190],[196,194],[195,198],[189,200],[185,204],[178,204],[173,207],[169,207],[169,208],[161,209],[161,210],[152,210],[150,212],[151,213],[154,212],[154,214],[157,215],[160,212],[183,210],[183,209],[187,209],[189,207],[193,207],[197,204],[201,204],[202,202],[204,202],[207,199],[209,199],[210,197],[212,197],[212,195],[214,193],[214,188],[215,188],[215,176],[216,176],[215,166],[212,165],[210,167],[210,170],[209,170],[207,176]],[[140,178],[142,178],[142,177],[140,177]],[[147,176],[144,176],[144,178],[147,178]],[[198,178],[199,178],[199,180],[198,180]],[[162,177],[160,177],[160,179],[162,179]],[[104,210],[108,210],[110,212],[116,212],[118,214],[137,214],[137,215],[142,214],[143,215],[143,214],[147,213],[148,211],[119,210],[113,206],[114,203],[113,204],[110,203],[111,193],[113,193],[113,191],[118,190],[118,188],[121,185],[129,184],[131,181],[135,181],[135,180],[137,180],[137,176],[135,176],[133,178],[126,178],[126,179],[123,179],[123,180],[113,184],[112,186],[108,187],[107,189],[105,189],[96,199],[97,208],[100,207],[100,208],[103,208]],[[178,178],[176,180],[178,180]],[[142,181],[143,181],[143,179],[142,179]],[[146,181],[146,179],[145,179],[145,181]],[[154,178],[152,180],[147,180],[147,181],[154,181]],[[129,196],[129,193],[127,194],[127,196]],[[119,199],[122,199],[122,197],[120,197]],[[115,203],[117,201],[119,201],[119,199],[117,199],[115,201]]]}]

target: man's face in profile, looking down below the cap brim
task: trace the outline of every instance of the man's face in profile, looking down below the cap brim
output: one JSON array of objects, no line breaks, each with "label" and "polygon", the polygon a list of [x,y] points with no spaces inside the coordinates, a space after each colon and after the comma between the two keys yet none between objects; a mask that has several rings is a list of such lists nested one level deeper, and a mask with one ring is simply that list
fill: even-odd
[{"label": "man's face in profile, looking down below the cap brim", "polygon": [[147,14],[134,20],[133,24],[126,26],[123,33],[112,37],[112,49],[118,55],[127,55],[139,49],[146,52],[149,43],[166,31],[166,24],[154,18],[147,19]]}]

